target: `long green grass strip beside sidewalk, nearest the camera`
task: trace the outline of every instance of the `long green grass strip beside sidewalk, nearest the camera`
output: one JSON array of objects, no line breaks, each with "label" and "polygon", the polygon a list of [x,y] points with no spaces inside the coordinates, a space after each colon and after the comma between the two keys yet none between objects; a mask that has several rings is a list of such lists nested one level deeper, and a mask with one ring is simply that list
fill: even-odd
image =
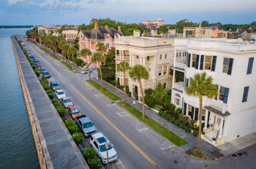
[{"label": "long green grass strip beside sidewalk, nearest the camera", "polygon": [[128,110],[131,114],[135,115],[137,118],[140,119],[140,121],[143,121],[144,123],[148,124],[149,127],[153,128],[153,130],[157,131],[159,134],[164,136],[166,139],[170,140],[172,143],[174,143],[177,146],[182,146],[184,144],[187,144],[188,142],[178,135],[175,135],[173,132],[162,126],[161,124],[157,123],[153,119],[147,117],[145,115],[145,118],[142,118],[142,112],[140,112],[138,109],[134,109],[133,112],[133,106],[126,103],[126,105],[123,105],[123,101],[118,103],[123,108]]}]

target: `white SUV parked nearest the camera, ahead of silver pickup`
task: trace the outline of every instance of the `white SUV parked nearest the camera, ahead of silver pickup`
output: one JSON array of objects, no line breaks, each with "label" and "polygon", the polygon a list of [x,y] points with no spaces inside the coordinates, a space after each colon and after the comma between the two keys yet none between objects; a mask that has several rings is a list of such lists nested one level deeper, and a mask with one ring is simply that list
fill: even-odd
[{"label": "white SUV parked nearest the camera, ahead of silver pickup", "polygon": [[91,135],[90,144],[104,164],[107,164],[107,149],[105,148],[105,143],[107,142],[109,144],[108,162],[110,163],[117,160],[117,152],[114,150],[113,145],[101,132]]}]

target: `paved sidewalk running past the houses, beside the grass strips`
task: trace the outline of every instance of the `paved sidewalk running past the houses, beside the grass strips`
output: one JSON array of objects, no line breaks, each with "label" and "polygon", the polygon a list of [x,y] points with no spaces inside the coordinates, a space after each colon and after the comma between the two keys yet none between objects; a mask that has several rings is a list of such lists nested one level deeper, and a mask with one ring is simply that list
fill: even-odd
[{"label": "paved sidewalk running past the houses, beside the grass strips", "polygon": [[[100,79],[96,80],[95,78],[93,78],[92,81],[95,81],[100,84]],[[118,97],[120,97],[122,99],[124,98],[123,91],[118,90],[116,87],[113,87],[111,84],[108,84],[103,81],[103,86],[107,90],[111,91],[114,95],[117,95]],[[129,97],[128,95],[126,95],[126,102],[128,104],[133,105],[134,100],[135,100],[134,97]],[[137,100],[135,100],[135,101],[136,101],[135,108],[138,109],[140,112],[142,112],[142,104],[139,103],[139,101],[137,101]],[[175,126],[175,124],[173,124],[169,121],[166,121],[166,119],[160,117],[156,112],[149,109],[147,106],[145,106],[145,115],[152,118],[154,121],[160,123],[162,126],[167,128],[168,130],[174,132],[174,134],[182,137],[182,139],[186,140],[188,143],[180,146],[180,149],[182,149],[184,152],[186,152],[187,150],[189,150],[195,146],[197,147],[198,137],[193,136],[191,133],[185,132],[182,128]],[[220,151],[220,149],[218,149],[217,147],[211,145],[210,143],[208,143],[202,139],[201,139],[201,150],[202,150],[202,152],[208,154],[210,157],[213,157],[213,158],[215,158],[215,157],[212,154],[210,154],[210,152]]]}]

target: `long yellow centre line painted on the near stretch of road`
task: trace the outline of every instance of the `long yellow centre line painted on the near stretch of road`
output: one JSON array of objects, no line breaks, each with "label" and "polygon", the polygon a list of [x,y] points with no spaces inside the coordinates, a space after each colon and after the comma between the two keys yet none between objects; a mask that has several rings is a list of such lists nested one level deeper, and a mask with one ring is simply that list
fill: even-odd
[{"label": "long yellow centre line painted on the near stretch of road", "polygon": [[107,121],[109,124],[111,124],[111,126],[112,126],[114,129],[116,129],[117,132],[119,132],[120,135],[122,135],[131,145],[133,145],[134,148],[135,148],[136,150],[138,150],[138,152],[139,152],[140,154],[142,154],[151,164],[153,164],[153,166],[156,165],[156,163],[153,162],[153,160],[152,160],[151,158],[149,158],[147,154],[145,154],[140,148],[138,148],[138,146],[136,146],[136,145],[133,143],[133,141],[131,141],[125,134],[123,134],[123,132],[122,132],[121,130],[119,130],[116,126],[114,126],[114,124],[113,124],[111,121],[109,121],[109,119],[108,119],[107,117],[105,117],[105,115],[102,114],[93,104],[91,104],[90,101],[87,100],[79,91],[77,91],[76,88],[74,88],[74,86],[72,86],[72,84],[70,84],[70,86],[74,89],[74,91],[76,91],[76,92],[78,93],[78,95],[80,95],[88,104],[90,104],[90,106],[92,106],[92,108],[94,108],[94,110],[96,110],[96,112],[98,112],[98,113],[101,115],[101,117],[103,117],[103,118],[105,119],[105,121]]}]

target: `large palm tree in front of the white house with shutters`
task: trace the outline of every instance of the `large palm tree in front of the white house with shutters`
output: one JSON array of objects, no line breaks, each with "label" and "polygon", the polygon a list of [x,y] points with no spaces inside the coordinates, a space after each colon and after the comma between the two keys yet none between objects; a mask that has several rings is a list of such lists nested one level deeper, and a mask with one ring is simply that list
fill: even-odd
[{"label": "large palm tree in front of the white house with shutters", "polygon": [[202,128],[202,96],[213,99],[218,96],[217,85],[213,84],[211,76],[206,77],[206,73],[197,73],[193,78],[189,78],[189,87],[185,88],[188,95],[199,97],[199,133],[197,154],[201,153],[201,128]]}]

